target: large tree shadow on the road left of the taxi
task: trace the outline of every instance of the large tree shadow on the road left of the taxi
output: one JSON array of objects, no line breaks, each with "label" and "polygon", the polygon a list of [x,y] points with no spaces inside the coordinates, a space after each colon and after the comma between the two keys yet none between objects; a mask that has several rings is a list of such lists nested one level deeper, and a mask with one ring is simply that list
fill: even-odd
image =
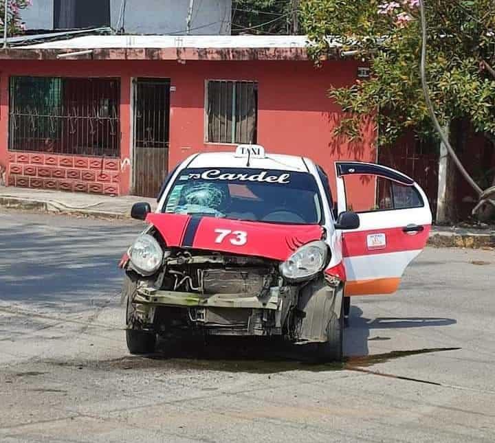
[{"label": "large tree shadow on the road left of the taxi", "polygon": [[23,223],[19,230],[0,228],[0,249],[9,272],[0,273],[3,302],[35,302],[63,308],[90,306],[103,293],[117,293],[122,275],[118,260],[138,229],[108,223],[72,224],[47,229]]}]

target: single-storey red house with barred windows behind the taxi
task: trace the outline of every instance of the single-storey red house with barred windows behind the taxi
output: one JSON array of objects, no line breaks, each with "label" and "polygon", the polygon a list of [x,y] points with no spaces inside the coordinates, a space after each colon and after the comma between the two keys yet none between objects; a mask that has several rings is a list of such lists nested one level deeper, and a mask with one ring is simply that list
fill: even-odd
[{"label": "single-storey red house with barred windows behind the taxi", "polygon": [[83,36],[0,51],[0,168],[7,185],[154,196],[195,152],[257,143],[267,152],[376,161],[375,125],[333,135],[327,98],[359,63],[320,69],[304,36]]}]

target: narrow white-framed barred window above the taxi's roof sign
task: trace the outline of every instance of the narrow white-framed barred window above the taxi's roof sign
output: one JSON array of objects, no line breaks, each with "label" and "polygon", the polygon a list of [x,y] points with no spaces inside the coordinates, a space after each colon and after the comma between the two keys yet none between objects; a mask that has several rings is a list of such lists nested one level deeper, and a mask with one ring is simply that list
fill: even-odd
[{"label": "narrow white-framed barred window above the taxi's roof sign", "polygon": [[206,141],[256,143],[258,83],[209,80],[206,89]]}]

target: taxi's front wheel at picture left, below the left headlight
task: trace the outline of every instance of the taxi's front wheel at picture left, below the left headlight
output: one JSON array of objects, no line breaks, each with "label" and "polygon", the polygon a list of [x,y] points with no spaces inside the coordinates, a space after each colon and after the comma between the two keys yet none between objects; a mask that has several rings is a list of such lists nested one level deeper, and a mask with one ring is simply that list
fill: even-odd
[{"label": "taxi's front wheel at picture left, below the left headlight", "polygon": [[126,299],[126,343],[131,354],[150,354],[155,350],[156,334],[135,329],[133,317],[135,307],[132,304],[137,288],[137,280],[126,274],[122,286],[122,299]]}]

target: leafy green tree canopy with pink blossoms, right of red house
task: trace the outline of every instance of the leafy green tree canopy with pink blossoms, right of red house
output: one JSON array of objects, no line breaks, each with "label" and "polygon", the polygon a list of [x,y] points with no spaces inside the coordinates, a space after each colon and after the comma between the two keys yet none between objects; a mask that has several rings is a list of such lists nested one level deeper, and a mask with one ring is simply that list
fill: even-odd
[{"label": "leafy green tree canopy with pink blossoms, right of red house", "polygon": [[[428,87],[439,121],[458,141],[466,128],[495,141],[495,2],[425,0],[423,5]],[[359,117],[377,113],[379,146],[391,146],[408,130],[424,139],[436,137],[419,75],[419,0],[303,0],[301,8],[316,60],[327,56],[328,36],[338,36],[342,51],[356,51],[371,66],[370,80],[349,88],[329,85],[331,98],[349,113],[340,133],[357,137]]]}]

